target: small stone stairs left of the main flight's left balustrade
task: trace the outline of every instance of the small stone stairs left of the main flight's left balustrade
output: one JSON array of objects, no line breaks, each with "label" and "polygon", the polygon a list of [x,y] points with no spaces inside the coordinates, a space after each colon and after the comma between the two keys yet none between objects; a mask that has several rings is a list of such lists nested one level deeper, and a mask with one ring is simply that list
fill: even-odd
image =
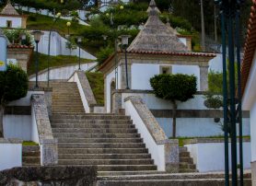
[{"label": "small stone stairs left of the main flight's left balustrade", "polygon": [[22,146],[22,166],[41,166],[39,145]]}]

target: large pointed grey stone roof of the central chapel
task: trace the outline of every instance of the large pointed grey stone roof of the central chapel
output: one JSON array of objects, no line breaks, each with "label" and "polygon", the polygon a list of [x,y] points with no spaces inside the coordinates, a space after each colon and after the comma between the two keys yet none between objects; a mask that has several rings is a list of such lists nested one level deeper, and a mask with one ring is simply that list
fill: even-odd
[{"label": "large pointed grey stone roof of the central chapel", "polygon": [[128,52],[188,52],[174,29],[169,29],[158,17],[155,0],[151,0],[148,19],[131,45]]}]

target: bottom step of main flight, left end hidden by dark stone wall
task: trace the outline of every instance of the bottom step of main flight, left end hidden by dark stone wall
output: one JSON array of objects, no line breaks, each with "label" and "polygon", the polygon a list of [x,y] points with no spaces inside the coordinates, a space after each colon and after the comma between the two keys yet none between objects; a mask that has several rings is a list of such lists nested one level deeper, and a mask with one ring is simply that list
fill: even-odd
[{"label": "bottom step of main flight, left end hidden by dark stone wall", "polygon": [[157,170],[155,165],[98,165],[98,171]]}]

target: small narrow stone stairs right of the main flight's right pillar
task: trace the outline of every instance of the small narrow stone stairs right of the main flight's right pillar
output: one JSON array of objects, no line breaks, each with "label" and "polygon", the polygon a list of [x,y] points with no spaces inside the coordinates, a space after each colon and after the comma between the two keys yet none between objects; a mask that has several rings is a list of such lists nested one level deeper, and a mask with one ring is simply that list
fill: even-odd
[{"label": "small narrow stone stairs right of the main flight's right pillar", "polygon": [[187,147],[180,146],[180,173],[181,172],[198,172],[196,166],[193,164],[190,152],[188,152]]}]

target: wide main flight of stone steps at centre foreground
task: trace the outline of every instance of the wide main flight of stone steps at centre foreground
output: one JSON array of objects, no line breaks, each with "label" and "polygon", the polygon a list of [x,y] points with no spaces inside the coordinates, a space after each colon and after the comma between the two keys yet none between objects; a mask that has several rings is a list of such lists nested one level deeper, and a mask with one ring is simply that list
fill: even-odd
[{"label": "wide main flight of stone steps at centre foreground", "polygon": [[157,170],[129,117],[114,114],[52,114],[59,165],[97,165],[98,170]]}]

